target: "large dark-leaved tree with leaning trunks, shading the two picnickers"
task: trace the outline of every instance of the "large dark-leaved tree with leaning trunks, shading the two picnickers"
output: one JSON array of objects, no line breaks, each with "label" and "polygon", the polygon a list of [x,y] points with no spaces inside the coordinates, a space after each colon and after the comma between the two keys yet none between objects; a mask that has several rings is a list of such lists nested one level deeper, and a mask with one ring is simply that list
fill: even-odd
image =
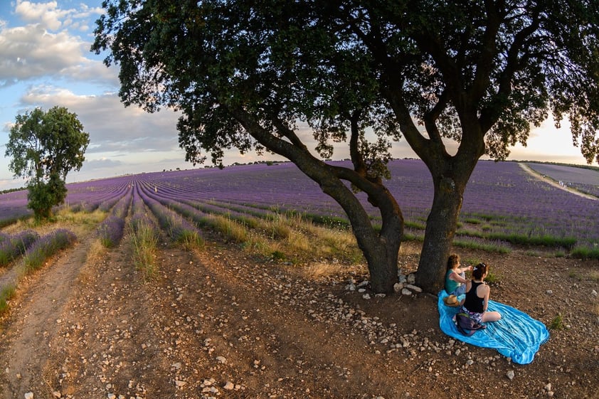
[{"label": "large dark-leaved tree with leaning trunks, shading the two picnickers", "polygon": [[[179,142],[194,163],[205,153],[218,163],[233,147],[293,161],[346,211],[376,292],[396,282],[403,235],[401,209],[383,184],[393,140],[403,137],[433,177],[418,284],[434,293],[482,155],[504,159],[551,112],[556,121],[570,118],[589,162],[599,157],[595,1],[103,6],[92,50],[108,50],[107,65],[120,65],[124,104],[181,111]],[[312,127],[314,149],[299,122]],[[349,146],[353,167],[323,161],[335,142]],[[356,190],[380,211],[380,228]]]}]

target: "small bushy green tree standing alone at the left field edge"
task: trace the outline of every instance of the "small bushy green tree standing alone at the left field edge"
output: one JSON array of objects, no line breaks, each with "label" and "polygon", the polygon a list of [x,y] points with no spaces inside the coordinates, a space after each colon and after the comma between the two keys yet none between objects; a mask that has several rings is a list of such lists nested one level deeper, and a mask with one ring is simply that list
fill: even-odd
[{"label": "small bushy green tree standing alone at the left field edge", "polygon": [[88,144],[90,135],[65,107],[48,112],[36,108],[16,116],[5,156],[12,157],[9,169],[14,176],[27,179],[27,206],[36,219],[49,218],[53,206],[64,202],[66,176],[81,169]]}]

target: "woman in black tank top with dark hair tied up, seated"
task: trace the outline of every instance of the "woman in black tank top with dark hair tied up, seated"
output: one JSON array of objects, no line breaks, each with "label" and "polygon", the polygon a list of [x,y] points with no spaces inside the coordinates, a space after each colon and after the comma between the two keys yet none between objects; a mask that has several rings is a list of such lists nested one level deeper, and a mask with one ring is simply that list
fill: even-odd
[{"label": "woman in black tank top with dark hair tied up, seated", "polygon": [[469,314],[477,323],[498,321],[502,318],[499,312],[487,312],[491,289],[484,282],[484,277],[487,277],[488,273],[489,267],[479,263],[472,269],[472,280],[466,282],[466,299],[462,304],[462,312]]}]

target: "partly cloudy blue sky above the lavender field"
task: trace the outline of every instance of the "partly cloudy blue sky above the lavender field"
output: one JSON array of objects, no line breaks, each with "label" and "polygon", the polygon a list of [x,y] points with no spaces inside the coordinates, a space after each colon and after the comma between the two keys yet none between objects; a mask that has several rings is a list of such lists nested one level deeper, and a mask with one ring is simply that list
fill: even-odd
[{"label": "partly cloudy blue sky above the lavender field", "polygon": [[[14,179],[4,153],[16,115],[35,107],[45,111],[67,107],[90,134],[83,167],[68,174],[69,183],[203,167],[185,161],[175,112],[149,114],[120,102],[118,67],[107,68],[102,63],[105,55],[90,52],[95,21],[103,13],[101,3],[0,0],[0,191],[24,185],[22,179]],[[302,135],[313,141],[309,132]],[[404,140],[393,143],[391,153],[396,158],[415,157]],[[334,159],[347,157],[343,148]],[[281,158],[230,151],[224,164],[267,159]],[[568,124],[555,129],[551,121],[533,129],[526,147],[512,147],[509,159],[585,164],[580,149],[572,144]]]}]

